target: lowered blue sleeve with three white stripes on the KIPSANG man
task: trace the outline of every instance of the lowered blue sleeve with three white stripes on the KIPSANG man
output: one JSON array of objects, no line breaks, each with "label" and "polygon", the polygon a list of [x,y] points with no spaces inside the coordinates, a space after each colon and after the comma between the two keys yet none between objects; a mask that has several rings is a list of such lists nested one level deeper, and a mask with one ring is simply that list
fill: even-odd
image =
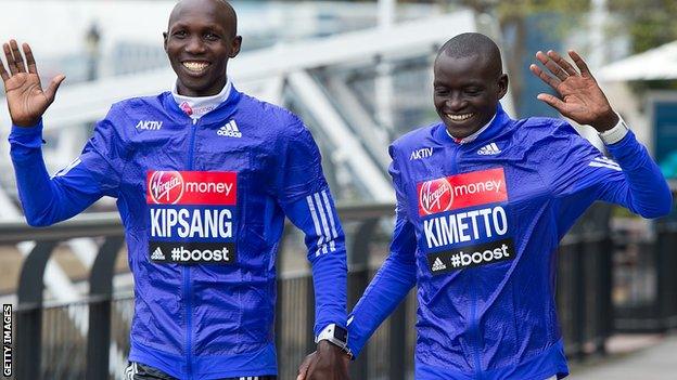
[{"label": "lowered blue sleeve with three white stripes on the KIPSANG man", "polygon": [[278,199],[305,234],[315,287],[315,336],[330,324],[346,327],[347,265],[343,228],[310,132],[294,118],[281,142]]}]

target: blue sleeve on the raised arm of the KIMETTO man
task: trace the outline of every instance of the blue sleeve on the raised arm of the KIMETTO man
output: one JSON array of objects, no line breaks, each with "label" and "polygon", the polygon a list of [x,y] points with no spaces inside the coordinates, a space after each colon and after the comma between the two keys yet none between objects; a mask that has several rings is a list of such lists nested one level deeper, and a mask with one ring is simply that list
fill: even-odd
[{"label": "blue sleeve on the raised arm of the KIMETTO man", "polygon": [[672,195],[667,182],[647,148],[628,131],[619,142],[608,145],[606,158],[567,123],[552,134],[553,155],[541,172],[550,176],[560,237],[595,200],[626,207],[644,218],[669,212]]}]

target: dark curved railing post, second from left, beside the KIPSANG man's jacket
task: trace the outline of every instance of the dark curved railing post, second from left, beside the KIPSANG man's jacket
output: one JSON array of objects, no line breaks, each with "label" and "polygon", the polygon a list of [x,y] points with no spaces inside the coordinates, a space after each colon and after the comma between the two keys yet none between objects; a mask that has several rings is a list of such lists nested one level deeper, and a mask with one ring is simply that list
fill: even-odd
[{"label": "dark curved railing post, second from left, beside the KIPSANG man's jacket", "polygon": [[108,378],[113,274],[123,241],[122,236],[107,237],[99,249],[90,272],[87,379]]}]

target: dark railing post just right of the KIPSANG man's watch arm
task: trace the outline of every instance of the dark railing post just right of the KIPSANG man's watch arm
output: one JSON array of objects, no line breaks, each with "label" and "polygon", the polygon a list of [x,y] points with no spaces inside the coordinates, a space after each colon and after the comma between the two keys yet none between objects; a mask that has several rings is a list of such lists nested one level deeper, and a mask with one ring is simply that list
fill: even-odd
[{"label": "dark railing post just right of the KIPSANG man's watch arm", "polygon": [[[355,234],[353,249],[348,251],[348,267],[354,270],[353,275],[348,277],[348,311],[355,307],[369,284],[369,243],[372,240],[378,225],[379,219],[369,219],[362,222]],[[368,350],[363,350],[350,366],[350,378],[367,379],[368,365]]]}]

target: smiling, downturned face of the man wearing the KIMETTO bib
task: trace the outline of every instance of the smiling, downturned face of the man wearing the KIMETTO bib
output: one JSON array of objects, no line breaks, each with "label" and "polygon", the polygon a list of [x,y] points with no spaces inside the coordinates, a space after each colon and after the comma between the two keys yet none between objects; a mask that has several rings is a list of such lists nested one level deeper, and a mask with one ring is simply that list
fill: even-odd
[{"label": "smiling, downturned face of the man wearing the KIMETTO bib", "polygon": [[433,102],[449,133],[463,139],[484,127],[508,90],[508,76],[482,56],[435,61]]}]

